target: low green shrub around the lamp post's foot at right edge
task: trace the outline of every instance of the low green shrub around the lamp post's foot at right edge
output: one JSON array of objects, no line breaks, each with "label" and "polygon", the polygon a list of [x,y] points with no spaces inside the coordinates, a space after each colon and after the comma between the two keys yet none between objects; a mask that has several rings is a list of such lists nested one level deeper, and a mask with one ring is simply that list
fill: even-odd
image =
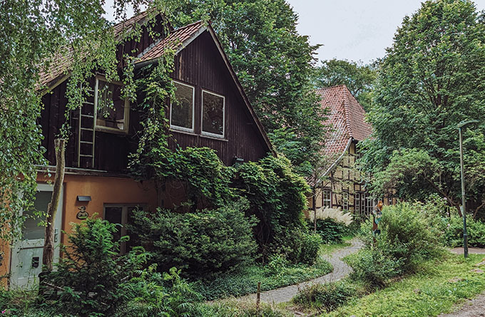
[{"label": "low green shrub around the lamp post's foot at right edge", "polygon": [[[463,246],[463,218],[451,217],[447,219],[447,226],[444,229],[444,243],[446,246]],[[485,223],[466,217],[466,234],[468,234],[469,246],[479,248],[485,247]]]}]

